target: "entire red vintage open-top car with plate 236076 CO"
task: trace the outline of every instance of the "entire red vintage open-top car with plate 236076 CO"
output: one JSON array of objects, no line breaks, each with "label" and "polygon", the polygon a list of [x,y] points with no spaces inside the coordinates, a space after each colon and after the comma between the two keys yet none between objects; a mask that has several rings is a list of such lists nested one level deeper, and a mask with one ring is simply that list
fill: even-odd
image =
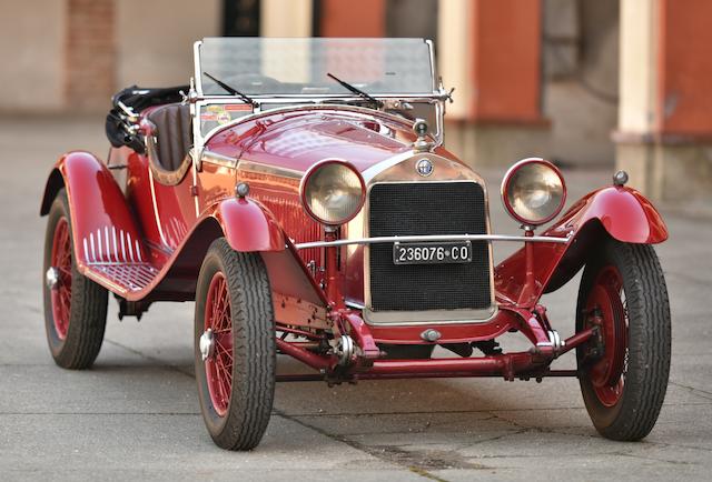
[{"label": "entire red vintage open-top car with plate 236076 CO", "polygon": [[[601,434],[652,430],[671,340],[652,244],[668,231],[624,172],[557,218],[561,172],[516,162],[501,193],[523,232],[494,234],[485,182],[443,148],[452,91],[431,42],[209,38],[194,56],[190,84],[115,96],[106,161],[70,152],[49,175],[57,364],[92,364],[109,292],[119,318],[195,300],[200,406],[226,449],[255,448],[275,383],[299,380],[577,376]],[[494,265],[495,242],[522,248]],[[581,269],[563,340],[540,298]],[[507,332],[530,349],[503,352]],[[551,368],[571,350],[577,370]],[[278,353],[314,371],[277,375]]]}]

